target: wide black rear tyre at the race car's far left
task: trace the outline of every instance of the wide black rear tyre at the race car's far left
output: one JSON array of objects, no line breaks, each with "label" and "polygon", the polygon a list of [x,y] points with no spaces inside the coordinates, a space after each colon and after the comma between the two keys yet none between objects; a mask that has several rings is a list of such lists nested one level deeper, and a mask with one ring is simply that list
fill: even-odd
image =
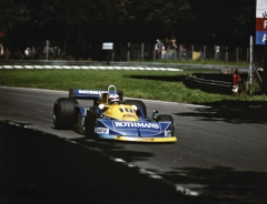
[{"label": "wide black rear tyre at the race car's far left", "polygon": [[53,104],[53,125],[56,129],[73,129],[75,126],[75,99],[60,98]]}]

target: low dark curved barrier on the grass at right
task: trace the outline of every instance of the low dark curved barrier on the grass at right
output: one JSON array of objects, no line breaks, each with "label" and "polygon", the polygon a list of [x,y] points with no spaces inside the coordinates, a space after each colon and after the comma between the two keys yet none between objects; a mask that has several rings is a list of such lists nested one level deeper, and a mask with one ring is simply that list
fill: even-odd
[{"label": "low dark curved barrier on the grass at right", "polygon": [[206,80],[195,76],[185,75],[184,84],[190,89],[199,89],[206,92],[233,93],[234,85],[231,82]]}]

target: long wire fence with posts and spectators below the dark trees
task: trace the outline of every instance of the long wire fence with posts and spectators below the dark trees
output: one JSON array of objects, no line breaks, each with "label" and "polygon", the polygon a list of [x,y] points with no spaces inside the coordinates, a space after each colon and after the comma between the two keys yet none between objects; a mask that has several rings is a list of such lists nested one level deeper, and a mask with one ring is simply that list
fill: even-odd
[{"label": "long wire fence with posts and spectators below the dark trees", "polygon": [[[27,51],[27,49],[29,51]],[[101,44],[70,48],[56,43],[43,47],[30,47],[24,51],[11,51],[6,48],[4,59],[19,60],[107,60]],[[113,43],[109,51],[109,61],[159,61],[159,60],[216,60],[225,62],[249,62],[249,48],[221,45],[178,45],[176,49],[166,47],[158,51],[151,43]]]}]

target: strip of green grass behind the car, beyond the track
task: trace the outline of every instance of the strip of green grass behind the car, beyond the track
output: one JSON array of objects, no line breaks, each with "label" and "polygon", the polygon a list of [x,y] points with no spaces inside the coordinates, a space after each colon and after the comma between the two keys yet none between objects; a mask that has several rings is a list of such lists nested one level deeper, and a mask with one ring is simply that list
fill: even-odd
[{"label": "strip of green grass behind the car, beyond the track", "polygon": [[239,108],[263,108],[267,102],[266,95],[225,95],[188,89],[182,83],[182,76],[192,72],[196,70],[165,72],[2,69],[0,85],[68,91],[69,88],[107,90],[108,85],[113,84],[129,98]]}]

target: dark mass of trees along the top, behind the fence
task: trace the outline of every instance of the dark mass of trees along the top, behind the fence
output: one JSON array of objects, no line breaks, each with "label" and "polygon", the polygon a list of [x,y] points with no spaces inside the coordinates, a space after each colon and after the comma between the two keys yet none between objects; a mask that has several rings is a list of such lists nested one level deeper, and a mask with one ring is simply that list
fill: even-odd
[{"label": "dark mass of trees along the top, behind the fence", "polygon": [[67,43],[79,55],[103,41],[248,45],[256,0],[0,0],[0,39],[10,49]]}]

